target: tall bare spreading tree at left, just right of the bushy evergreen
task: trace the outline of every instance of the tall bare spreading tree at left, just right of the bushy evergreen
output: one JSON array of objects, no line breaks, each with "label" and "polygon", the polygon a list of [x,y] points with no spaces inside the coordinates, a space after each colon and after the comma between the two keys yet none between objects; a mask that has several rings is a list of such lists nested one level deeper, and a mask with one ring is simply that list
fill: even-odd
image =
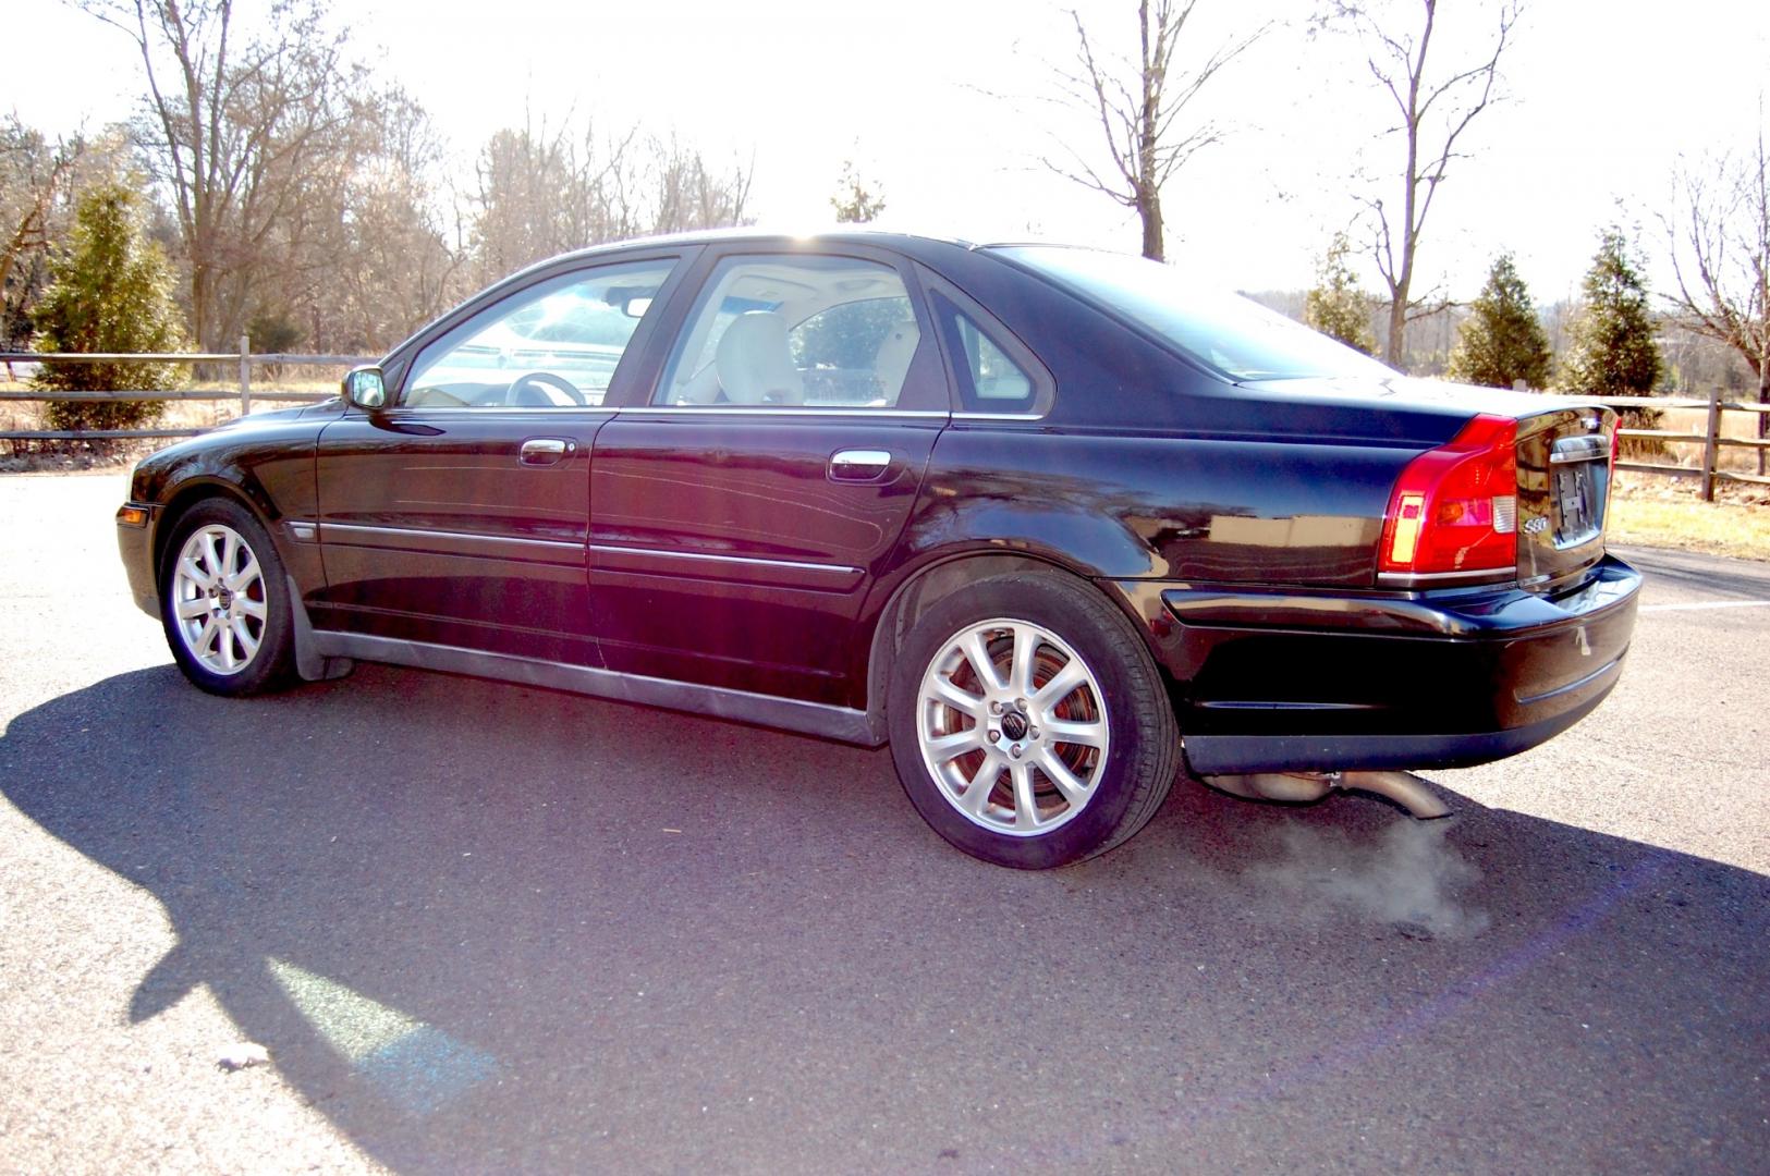
[{"label": "tall bare spreading tree at left, just right of the bushy evergreen", "polygon": [[232,0],[80,0],[127,34],[147,76],[136,124],[170,195],[189,281],[191,329],[225,348],[244,325],[273,244],[349,122],[343,34],[322,0],[271,5],[242,35]]}]

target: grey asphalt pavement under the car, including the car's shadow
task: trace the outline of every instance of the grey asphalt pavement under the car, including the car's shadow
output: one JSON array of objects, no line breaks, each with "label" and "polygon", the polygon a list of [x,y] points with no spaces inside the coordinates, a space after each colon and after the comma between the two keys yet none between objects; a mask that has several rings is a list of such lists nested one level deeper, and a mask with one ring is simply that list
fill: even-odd
[{"label": "grey asphalt pavement under the car, including the car's shadow", "polygon": [[1181,783],[1018,874],[883,752],[204,695],[124,488],[0,477],[0,1171],[1770,1171],[1770,564],[1621,552],[1621,686],[1448,822]]}]

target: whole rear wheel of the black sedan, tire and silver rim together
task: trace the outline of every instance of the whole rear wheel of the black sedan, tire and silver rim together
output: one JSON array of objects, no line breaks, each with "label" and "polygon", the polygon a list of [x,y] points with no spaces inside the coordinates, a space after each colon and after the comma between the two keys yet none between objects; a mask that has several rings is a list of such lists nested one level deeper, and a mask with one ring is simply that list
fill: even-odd
[{"label": "whole rear wheel of the black sedan, tire and silver rim together", "polygon": [[[968,635],[977,637],[974,649],[993,661],[989,684],[963,651]],[[989,714],[989,702],[961,707],[924,697],[924,684],[954,686],[984,700],[1002,690],[1012,695],[1021,681],[1014,663],[1021,642],[1032,649],[1025,681],[1035,686],[1025,709],[1004,697],[1007,709],[1000,718],[984,718],[984,729],[974,716]],[[1074,674],[1067,667],[1073,660],[1083,663],[1089,679],[1043,697],[1043,684]],[[995,865],[1046,870],[1106,852],[1156,815],[1181,771],[1179,725],[1143,640],[1092,585],[1062,575],[997,577],[936,603],[897,651],[887,702],[892,759],[910,803],[952,845]],[[1044,732],[1032,725],[1037,722],[1048,723]],[[966,752],[938,743],[974,741],[972,730],[1002,739]],[[1058,730],[1064,734],[1053,737]],[[1064,737],[1071,732],[1096,741],[1104,734],[1104,752],[1071,743]],[[1014,760],[1007,759],[1011,752]],[[1071,787],[1089,789],[1069,792],[1044,775],[1053,757],[1062,760],[1053,764],[1058,775],[1071,771]],[[993,764],[998,775],[989,775]],[[1016,766],[1028,782],[1030,806],[1016,794]],[[986,778],[989,790],[979,783]],[[975,815],[966,815],[966,805]],[[1048,831],[1041,824],[1046,819]]]}]

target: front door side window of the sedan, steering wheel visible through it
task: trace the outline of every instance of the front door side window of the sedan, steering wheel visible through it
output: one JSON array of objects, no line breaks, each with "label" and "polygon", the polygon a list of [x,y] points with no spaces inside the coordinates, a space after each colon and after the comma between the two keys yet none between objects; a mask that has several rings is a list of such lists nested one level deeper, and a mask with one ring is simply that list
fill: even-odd
[{"label": "front door side window of the sedan, steering wheel visible through it", "polygon": [[634,262],[526,286],[435,340],[412,364],[409,409],[600,405],[674,262]]}]

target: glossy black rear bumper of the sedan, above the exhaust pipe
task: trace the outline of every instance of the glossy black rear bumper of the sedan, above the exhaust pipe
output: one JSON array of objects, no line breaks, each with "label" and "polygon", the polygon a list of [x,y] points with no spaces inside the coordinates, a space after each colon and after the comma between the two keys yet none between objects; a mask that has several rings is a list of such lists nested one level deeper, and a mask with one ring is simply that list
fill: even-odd
[{"label": "glossy black rear bumper of the sedan, above the exhaust pipe", "polygon": [[1227,775],[1466,767],[1533,748],[1616,686],[1641,575],[1605,557],[1552,596],[1119,587],[1177,683],[1188,764]]}]

